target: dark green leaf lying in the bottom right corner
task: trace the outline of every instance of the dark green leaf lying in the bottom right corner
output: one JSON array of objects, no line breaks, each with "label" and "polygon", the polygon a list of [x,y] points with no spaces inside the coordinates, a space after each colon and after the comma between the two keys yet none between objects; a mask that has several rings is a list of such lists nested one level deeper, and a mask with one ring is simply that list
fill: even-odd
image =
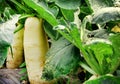
[{"label": "dark green leaf lying in the bottom right corner", "polygon": [[120,77],[111,75],[103,75],[96,79],[85,81],[83,84],[119,84]]}]

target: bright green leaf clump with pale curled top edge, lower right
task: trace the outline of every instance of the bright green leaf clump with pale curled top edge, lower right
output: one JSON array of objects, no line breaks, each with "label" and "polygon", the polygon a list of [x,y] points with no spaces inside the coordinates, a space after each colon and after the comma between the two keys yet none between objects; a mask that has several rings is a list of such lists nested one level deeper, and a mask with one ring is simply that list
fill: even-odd
[{"label": "bright green leaf clump with pale curled top edge, lower right", "polygon": [[97,74],[113,73],[119,66],[119,38],[119,33],[107,36],[107,38],[103,38],[101,35],[101,37],[89,38],[90,40],[86,42],[85,49],[88,53],[88,58],[85,60]]}]

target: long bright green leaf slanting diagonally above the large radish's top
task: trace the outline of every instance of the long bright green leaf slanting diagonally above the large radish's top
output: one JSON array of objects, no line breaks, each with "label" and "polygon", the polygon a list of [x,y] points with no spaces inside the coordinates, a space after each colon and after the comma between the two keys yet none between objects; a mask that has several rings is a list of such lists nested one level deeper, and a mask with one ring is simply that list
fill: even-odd
[{"label": "long bright green leaf slanting diagonally above the large radish's top", "polygon": [[34,0],[23,0],[26,5],[34,9],[40,17],[48,21],[49,24],[52,26],[58,25],[58,21],[54,14],[50,12],[45,6],[43,6],[43,3],[41,2],[36,2]]}]

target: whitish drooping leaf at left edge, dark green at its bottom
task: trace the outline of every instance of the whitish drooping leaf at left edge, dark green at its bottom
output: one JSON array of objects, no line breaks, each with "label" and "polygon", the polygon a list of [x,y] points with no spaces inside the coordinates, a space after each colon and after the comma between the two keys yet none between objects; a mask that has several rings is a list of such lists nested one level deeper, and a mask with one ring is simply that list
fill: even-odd
[{"label": "whitish drooping leaf at left edge, dark green at its bottom", "polygon": [[18,21],[18,17],[19,15],[14,15],[12,19],[0,24],[0,66],[3,65],[8,47],[13,41],[13,32],[16,28],[15,24]]}]

